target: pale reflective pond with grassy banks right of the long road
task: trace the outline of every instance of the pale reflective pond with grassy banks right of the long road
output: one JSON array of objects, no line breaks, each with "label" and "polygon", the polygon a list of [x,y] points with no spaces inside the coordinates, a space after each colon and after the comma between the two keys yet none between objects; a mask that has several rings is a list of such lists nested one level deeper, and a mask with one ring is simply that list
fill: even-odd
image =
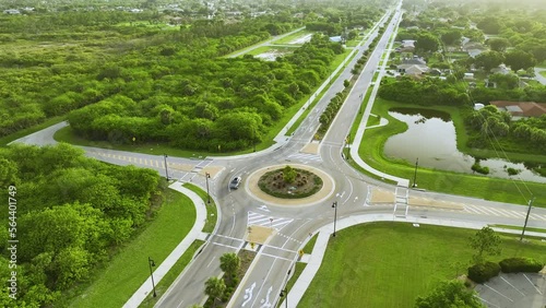
[{"label": "pale reflective pond with grassy banks right of the long road", "polygon": [[[384,154],[422,167],[472,174],[475,158],[456,149],[455,127],[449,114],[417,108],[393,108],[389,111],[393,118],[405,122],[406,131],[389,138],[384,144]],[[479,165],[489,168],[489,175],[499,178],[518,178],[546,182],[546,177],[529,169],[523,163],[509,163],[500,158],[479,161]],[[510,177],[507,168],[520,170]]]}]

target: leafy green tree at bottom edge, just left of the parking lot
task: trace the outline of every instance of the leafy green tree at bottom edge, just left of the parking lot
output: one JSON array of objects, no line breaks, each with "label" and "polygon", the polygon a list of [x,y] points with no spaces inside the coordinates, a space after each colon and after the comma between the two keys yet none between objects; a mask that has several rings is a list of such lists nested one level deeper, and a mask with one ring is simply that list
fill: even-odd
[{"label": "leafy green tree at bottom edge, just left of the parking lot", "polygon": [[468,291],[460,281],[440,282],[432,292],[425,297],[417,297],[415,307],[418,308],[482,308],[484,307],[475,296],[475,291]]}]

